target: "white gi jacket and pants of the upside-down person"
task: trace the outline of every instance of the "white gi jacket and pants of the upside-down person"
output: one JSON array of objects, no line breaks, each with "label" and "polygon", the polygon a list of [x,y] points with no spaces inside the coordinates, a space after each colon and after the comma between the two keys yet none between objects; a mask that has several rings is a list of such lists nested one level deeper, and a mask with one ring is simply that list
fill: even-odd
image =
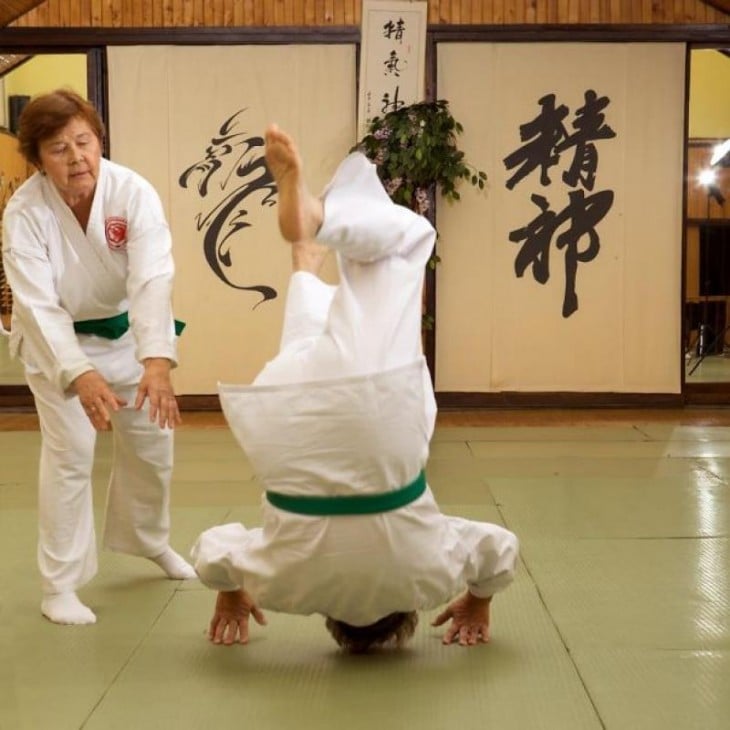
[{"label": "white gi jacket and pants of the upside-down person", "polygon": [[[435,232],[392,203],[359,153],[323,200],[317,240],[337,252],[339,285],[295,273],[279,355],[253,385],[221,385],[221,402],[267,490],[397,490],[424,469],[435,422],[421,347]],[[443,515],[430,489],[379,514],[294,514],[266,496],[262,505],[262,528],[214,527],[193,548],[207,586],[244,588],[262,608],[364,626],[434,608],[466,587],[488,597],[513,579],[515,536]]]}]

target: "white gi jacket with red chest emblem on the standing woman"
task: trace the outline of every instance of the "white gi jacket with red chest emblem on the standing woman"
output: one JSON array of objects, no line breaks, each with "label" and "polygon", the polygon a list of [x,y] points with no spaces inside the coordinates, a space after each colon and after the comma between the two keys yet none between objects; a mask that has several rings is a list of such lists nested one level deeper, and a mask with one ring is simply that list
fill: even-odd
[{"label": "white gi jacket with red chest emblem on the standing woman", "polygon": [[[55,185],[30,177],[3,215],[3,265],[13,290],[10,352],[28,372],[66,391],[88,370],[132,384],[144,358],[176,363],[170,231],[156,191],[132,170],[101,160],[86,233]],[[124,311],[131,326],[119,340],[73,329]]]}]

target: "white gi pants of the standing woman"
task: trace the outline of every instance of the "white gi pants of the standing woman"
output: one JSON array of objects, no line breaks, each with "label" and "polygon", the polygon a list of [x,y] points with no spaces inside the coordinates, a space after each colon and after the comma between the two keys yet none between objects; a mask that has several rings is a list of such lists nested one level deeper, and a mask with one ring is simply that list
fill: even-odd
[{"label": "white gi pants of the standing woman", "polygon": [[[75,591],[97,571],[91,472],[96,431],[78,397],[26,372],[41,426],[38,566],[44,593]],[[114,444],[104,546],[144,557],[168,546],[173,432],[133,408],[136,386],[114,386],[129,404],[111,412]]]}]

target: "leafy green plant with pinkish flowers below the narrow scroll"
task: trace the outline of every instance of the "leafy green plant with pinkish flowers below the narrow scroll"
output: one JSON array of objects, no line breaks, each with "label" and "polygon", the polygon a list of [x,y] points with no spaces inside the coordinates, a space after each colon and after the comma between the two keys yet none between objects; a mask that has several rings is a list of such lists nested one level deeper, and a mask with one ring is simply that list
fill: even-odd
[{"label": "leafy green plant with pinkish flowers below the narrow scroll", "polygon": [[486,173],[469,165],[457,147],[462,132],[447,101],[422,102],[375,117],[355,149],[375,163],[395,203],[425,215],[436,189],[449,201],[460,199],[462,180],[484,189]]}]

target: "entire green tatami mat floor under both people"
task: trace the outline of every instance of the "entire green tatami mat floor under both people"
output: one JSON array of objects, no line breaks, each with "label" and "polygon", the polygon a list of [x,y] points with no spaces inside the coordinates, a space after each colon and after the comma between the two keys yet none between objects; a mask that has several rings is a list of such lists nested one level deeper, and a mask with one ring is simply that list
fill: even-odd
[{"label": "entire green tatami mat floor under both people", "polygon": [[[98,623],[39,612],[35,431],[0,432],[1,730],[726,730],[730,428],[673,423],[440,427],[445,512],[520,538],[493,640],[444,647],[435,612],[398,653],[348,657],[321,617],[268,614],[246,647],[204,636],[215,595],[103,552]],[[110,439],[99,442],[97,518]],[[178,433],[173,545],[260,522],[225,428]],[[100,528],[100,525],[99,525]]]}]

